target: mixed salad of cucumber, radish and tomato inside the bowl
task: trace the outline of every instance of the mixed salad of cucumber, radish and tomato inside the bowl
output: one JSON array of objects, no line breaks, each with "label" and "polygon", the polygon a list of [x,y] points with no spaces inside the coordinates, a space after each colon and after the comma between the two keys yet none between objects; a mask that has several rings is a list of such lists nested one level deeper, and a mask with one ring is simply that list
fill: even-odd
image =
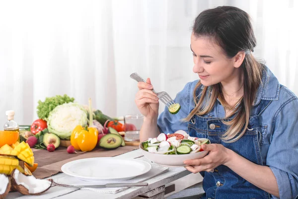
[{"label": "mixed salad of cucumber, radish and tomato inside the bowl", "polygon": [[167,135],[160,133],[158,137],[142,142],[144,150],[167,155],[197,153],[203,151],[202,144],[210,144],[210,140],[191,137],[183,130]]}]

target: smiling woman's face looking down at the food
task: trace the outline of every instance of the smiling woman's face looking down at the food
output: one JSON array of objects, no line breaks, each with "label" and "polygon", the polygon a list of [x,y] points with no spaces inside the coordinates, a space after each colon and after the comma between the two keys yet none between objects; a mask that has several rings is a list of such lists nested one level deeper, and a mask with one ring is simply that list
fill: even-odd
[{"label": "smiling woman's face looking down at the food", "polygon": [[204,86],[229,83],[238,78],[239,66],[235,58],[228,58],[223,49],[209,37],[191,35],[191,50],[194,56],[193,72],[199,75]]}]

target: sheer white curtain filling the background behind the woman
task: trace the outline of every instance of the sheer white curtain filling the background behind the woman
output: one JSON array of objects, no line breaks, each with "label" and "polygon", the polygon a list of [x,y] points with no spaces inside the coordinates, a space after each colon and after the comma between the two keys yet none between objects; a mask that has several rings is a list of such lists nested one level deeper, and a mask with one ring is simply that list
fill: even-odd
[{"label": "sheer white curtain filling the background behind the woman", "polygon": [[64,94],[112,117],[138,113],[133,72],[174,98],[198,78],[192,22],[219,5],[251,15],[254,55],[298,95],[296,0],[0,1],[0,125],[8,109],[31,124],[38,100]]}]

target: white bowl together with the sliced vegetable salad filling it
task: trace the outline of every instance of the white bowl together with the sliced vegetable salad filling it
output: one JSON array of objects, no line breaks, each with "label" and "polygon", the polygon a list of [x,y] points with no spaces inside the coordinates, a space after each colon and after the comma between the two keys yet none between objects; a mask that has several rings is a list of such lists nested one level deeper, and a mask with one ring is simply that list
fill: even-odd
[{"label": "white bowl together with the sliced vegetable salad filling it", "polygon": [[[200,158],[205,157],[208,154],[208,151],[200,150],[201,147],[200,147],[199,144],[198,144],[199,148],[195,147],[195,148],[191,149],[191,151],[187,151],[187,149],[190,148],[190,147],[180,147],[180,148],[182,148],[182,150],[181,150],[181,153],[179,153],[178,152],[179,151],[179,148],[178,148],[179,146],[182,146],[182,145],[183,146],[189,146],[189,144],[194,143],[194,142],[191,142],[187,139],[187,137],[189,137],[189,136],[185,131],[179,130],[179,132],[176,131],[174,134],[176,134],[176,133],[182,134],[184,136],[183,136],[182,139],[177,138],[178,141],[179,141],[178,145],[172,142],[173,139],[169,140],[169,138],[166,137],[166,140],[164,140],[164,141],[169,140],[167,142],[170,143],[170,145],[169,145],[170,148],[168,148],[168,150],[164,150],[164,151],[159,150],[159,149],[164,148],[163,144],[160,144],[161,142],[162,143],[164,143],[164,142],[160,141],[162,139],[158,139],[158,137],[160,137],[160,136],[155,138],[157,140],[157,142],[155,142],[156,144],[154,144],[154,141],[153,141],[153,143],[151,143],[151,144],[149,144],[149,146],[147,146],[148,143],[150,143],[150,141],[152,140],[151,138],[149,138],[149,140],[141,142],[140,145],[139,145],[139,148],[141,149],[143,155],[147,159],[149,159],[151,162],[154,162],[154,163],[159,164],[159,165],[164,166],[164,167],[185,167],[185,166],[187,166],[183,163],[185,160],[200,159]],[[167,135],[167,136],[169,136],[169,135]],[[189,137],[189,138],[191,138],[191,137]],[[199,143],[202,143],[202,144],[209,144],[210,143],[210,140],[208,140],[206,138],[194,138],[194,137],[192,137],[191,139],[192,139],[192,141],[198,140]],[[176,141],[174,141],[174,142],[176,142]],[[184,143],[186,143],[186,144],[184,144]],[[197,143],[198,142],[196,141],[196,144]],[[157,144],[159,144],[159,145],[157,145]],[[155,150],[152,151],[152,150],[148,149],[152,145],[156,148],[156,151]],[[160,146],[160,145],[162,145],[162,146]],[[167,148],[167,147],[165,147],[165,148]],[[186,150],[185,150],[185,148],[186,148]]]}]

